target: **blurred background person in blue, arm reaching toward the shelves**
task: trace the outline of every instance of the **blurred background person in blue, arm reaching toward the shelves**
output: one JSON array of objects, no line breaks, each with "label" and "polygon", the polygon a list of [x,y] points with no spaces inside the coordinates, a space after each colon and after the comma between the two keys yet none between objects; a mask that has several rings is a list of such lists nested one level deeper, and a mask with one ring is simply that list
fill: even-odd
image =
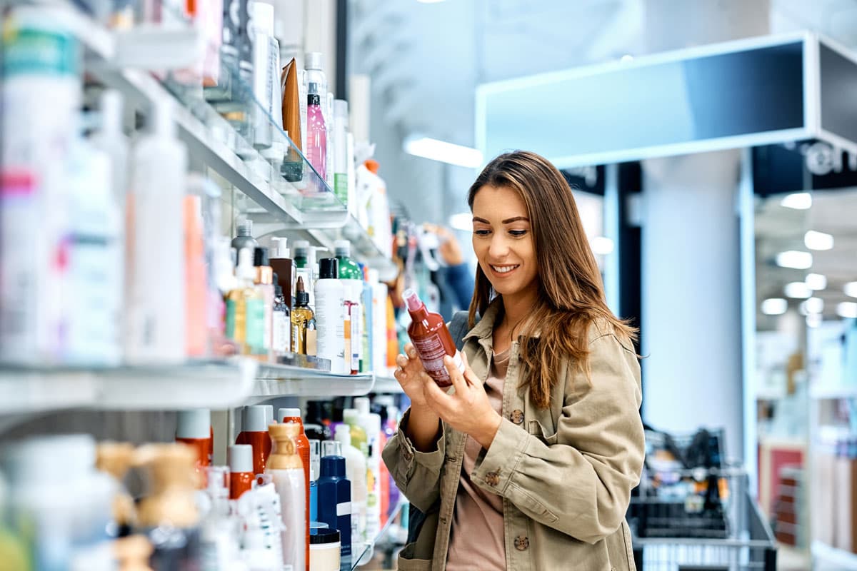
[{"label": "blurred background person in blue, arm reaching toward the shelves", "polygon": [[452,230],[429,223],[423,224],[423,228],[437,235],[440,242],[437,251],[446,266],[441,266],[436,272],[435,283],[440,288],[440,315],[450,321],[452,313],[470,306],[473,274],[464,261],[464,253]]}]

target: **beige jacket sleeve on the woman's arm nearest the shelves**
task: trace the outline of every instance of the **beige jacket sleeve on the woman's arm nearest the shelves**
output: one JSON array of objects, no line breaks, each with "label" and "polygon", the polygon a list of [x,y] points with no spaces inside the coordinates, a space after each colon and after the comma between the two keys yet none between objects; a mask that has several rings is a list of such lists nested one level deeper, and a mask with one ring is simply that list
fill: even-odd
[{"label": "beige jacket sleeve on the woman's arm nearest the shelves", "polygon": [[399,490],[408,501],[426,512],[440,497],[440,469],[446,455],[446,427],[441,423],[436,449],[420,452],[414,448],[411,438],[405,436],[409,419],[410,408],[399,423],[399,431],[390,438],[381,455]]}]

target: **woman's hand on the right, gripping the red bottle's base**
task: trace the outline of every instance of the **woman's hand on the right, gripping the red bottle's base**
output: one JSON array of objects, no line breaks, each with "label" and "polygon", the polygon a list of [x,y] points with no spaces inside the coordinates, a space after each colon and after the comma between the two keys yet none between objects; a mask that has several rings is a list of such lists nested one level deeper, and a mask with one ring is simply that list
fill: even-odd
[{"label": "woman's hand on the right, gripping the red bottle's base", "polygon": [[482,448],[488,449],[500,428],[500,414],[488,401],[485,387],[470,369],[467,357],[461,354],[461,358],[464,360],[464,374],[458,371],[452,357],[447,355],[443,358],[455,392],[447,395],[446,390],[429,380],[424,392],[426,402],[448,425],[469,434]]}]

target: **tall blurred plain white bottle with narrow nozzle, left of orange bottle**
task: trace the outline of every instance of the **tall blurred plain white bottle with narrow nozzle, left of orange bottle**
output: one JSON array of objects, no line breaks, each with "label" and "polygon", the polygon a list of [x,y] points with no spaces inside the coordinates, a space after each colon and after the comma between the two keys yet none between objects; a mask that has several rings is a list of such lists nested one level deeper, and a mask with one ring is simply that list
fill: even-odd
[{"label": "tall blurred plain white bottle with narrow nozzle, left of orange bottle", "polygon": [[126,358],[135,364],[185,359],[183,198],[188,150],[176,139],[171,102],[154,108],[153,132],[133,153],[134,247],[129,277]]}]

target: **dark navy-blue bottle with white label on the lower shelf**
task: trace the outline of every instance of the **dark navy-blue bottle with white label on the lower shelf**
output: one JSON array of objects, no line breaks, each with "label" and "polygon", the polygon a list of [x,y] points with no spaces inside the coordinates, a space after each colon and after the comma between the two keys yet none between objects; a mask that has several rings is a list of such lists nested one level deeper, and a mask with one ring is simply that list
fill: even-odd
[{"label": "dark navy-blue bottle with white label on the lower shelf", "polygon": [[351,557],[351,481],[345,478],[345,458],[340,454],[339,442],[325,442],[325,455],[321,457],[321,477],[318,494],[318,520],[330,529],[339,530],[343,557]]}]

